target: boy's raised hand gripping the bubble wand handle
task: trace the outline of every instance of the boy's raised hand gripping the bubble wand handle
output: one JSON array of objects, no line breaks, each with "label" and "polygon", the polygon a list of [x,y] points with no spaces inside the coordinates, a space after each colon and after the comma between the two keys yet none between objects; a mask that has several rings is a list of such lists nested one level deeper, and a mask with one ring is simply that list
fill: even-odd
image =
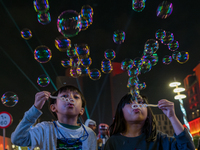
[{"label": "boy's raised hand gripping the bubble wand handle", "polygon": [[42,91],[42,92],[36,93],[34,106],[39,110],[42,109],[45,101],[49,99],[50,94],[51,93],[48,91]]}]

